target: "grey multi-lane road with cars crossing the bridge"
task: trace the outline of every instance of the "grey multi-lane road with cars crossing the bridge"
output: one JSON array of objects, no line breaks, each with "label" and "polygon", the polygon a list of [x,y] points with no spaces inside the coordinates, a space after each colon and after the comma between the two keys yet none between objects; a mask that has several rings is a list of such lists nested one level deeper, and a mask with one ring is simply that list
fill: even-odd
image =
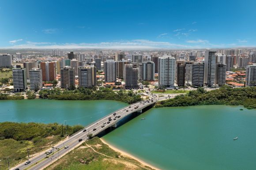
[{"label": "grey multi-lane road with cars crossing the bridge", "polygon": [[[148,100],[148,102],[142,101],[133,103],[131,105],[128,105],[127,107],[123,107],[109,115],[106,115],[105,117],[99,119],[96,122],[91,123],[89,126],[83,128],[79,132],[73,134],[72,136],[68,137],[67,139],[60,141],[58,144],[54,146],[54,148],[49,148],[48,150],[45,150],[43,152],[40,152],[38,155],[34,156],[33,158],[30,158],[30,164],[25,165],[26,162],[23,162],[19,164],[18,166],[15,166],[11,168],[11,170],[15,170],[16,168],[19,168],[19,170],[42,170],[46,166],[49,166],[51,163],[55,162],[62,156],[66,155],[68,152],[73,150],[74,148],[78,147],[80,144],[83,143],[84,140],[88,140],[89,133],[92,134],[92,136],[97,135],[98,133],[102,132],[106,128],[110,126],[114,126],[117,122],[119,122],[122,118],[126,117],[127,115],[132,114],[133,112],[140,111],[143,108],[154,104],[158,101],[158,96],[150,95],[150,98],[153,99],[153,101]],[[166,100],[166,96],[159,97],[159,100]],[[138,107],[138,108],[136,108]],[[116,118],[114,120],[114,113],[116,113],[115,116],[120,116],[120,118]],[[109,121],[109,117],[111,117],[111,121]],[[107,123],[109,122],[109,124]],[[105,124],[103,124],[105,123]],[[104,126],[104,127],[102,127]],[[86,129],[86,132],[83,132],[83,130]],[[83,141],[79,142],[78,140],[82,139]],[[69,146],[67,149],[64,149],[65,146]],[[52,150],[53,153],[48,155],[48,158],[46,158],[45,152]]]}]

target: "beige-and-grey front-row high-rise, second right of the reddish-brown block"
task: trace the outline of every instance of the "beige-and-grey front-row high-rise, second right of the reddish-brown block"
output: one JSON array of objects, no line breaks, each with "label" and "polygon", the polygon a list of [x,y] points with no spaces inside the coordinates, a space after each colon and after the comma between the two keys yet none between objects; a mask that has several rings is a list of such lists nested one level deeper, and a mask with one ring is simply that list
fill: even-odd
[{"label": "beige-and-grey front-row high-rise, second right of the reddish-brown block", "polygon": [[96,85],[96,67],[78,67],[79,87],[91,88]]}]

